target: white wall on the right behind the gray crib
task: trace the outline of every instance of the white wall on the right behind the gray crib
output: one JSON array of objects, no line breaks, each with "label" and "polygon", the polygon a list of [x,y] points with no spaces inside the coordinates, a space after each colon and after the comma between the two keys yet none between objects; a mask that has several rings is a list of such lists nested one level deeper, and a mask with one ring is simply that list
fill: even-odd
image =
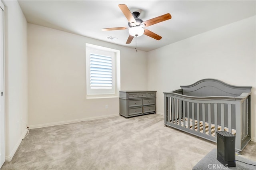
[{"label": "white wall on the right behind the gray crib", "polygon": [[204,78],[252,86],[252,137],[256,141],[255,16],[148,52],[148,89],[157,90],[164,114],[165,91]]}]

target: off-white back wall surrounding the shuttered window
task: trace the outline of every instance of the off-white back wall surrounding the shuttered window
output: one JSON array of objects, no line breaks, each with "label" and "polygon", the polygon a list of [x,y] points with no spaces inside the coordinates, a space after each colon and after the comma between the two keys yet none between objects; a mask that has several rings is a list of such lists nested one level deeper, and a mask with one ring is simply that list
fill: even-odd
[{"label": "off-white back wall surrounding the shuttered window", "polygon": [[86,99],[86,43],[120,50],[121,90],[147,88],[146,52],[28,24],[31,128],[119,115],[118,97]]}]

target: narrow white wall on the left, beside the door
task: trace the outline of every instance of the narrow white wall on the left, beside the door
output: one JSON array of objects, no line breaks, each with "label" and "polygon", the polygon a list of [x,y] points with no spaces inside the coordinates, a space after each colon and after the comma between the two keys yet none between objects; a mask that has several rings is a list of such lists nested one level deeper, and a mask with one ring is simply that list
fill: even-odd
[{"label": "narrow white wall on the left, beside the door", "polygon": [[6,161],[10,161],[28,122],[27,22],[16,0],[5,8]]}]

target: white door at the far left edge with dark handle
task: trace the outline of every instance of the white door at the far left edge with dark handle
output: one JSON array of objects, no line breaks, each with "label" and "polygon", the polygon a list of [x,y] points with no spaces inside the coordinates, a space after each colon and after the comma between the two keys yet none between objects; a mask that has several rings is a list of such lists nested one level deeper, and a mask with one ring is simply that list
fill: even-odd
[{"label": "white door at the far left edge with dark handle", "polygon": [[[4,116],[4,4],[0,2],[0,160],[5,162],[5,116]],[[1,167],[0,166],[0,167]]]}]

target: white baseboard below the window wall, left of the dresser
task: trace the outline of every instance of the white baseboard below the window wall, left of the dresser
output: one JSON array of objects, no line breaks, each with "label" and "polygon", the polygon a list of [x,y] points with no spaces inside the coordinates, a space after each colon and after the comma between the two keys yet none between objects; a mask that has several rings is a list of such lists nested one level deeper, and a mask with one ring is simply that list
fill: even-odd
[{"label": "white baseboard below the window wall, left of the dresser", "polygon": [[29,128],[33,129],[33,128],[51,127],[51,126],[56,126],[56,125],[65,125],[65,124],[69,124],[69,123],[78,123],[78,122],[82,122],[82,121],[91,121],[91,120],[95,120],[95,119],[103,119],[103,118],[115,117],[115,116],[119,116],[119,114],[88,117],[88,118],[75,119],[75,120],[70,120],[70,121],[44,123],[44,124],[39,124],[39,125],[30,125]]}]

